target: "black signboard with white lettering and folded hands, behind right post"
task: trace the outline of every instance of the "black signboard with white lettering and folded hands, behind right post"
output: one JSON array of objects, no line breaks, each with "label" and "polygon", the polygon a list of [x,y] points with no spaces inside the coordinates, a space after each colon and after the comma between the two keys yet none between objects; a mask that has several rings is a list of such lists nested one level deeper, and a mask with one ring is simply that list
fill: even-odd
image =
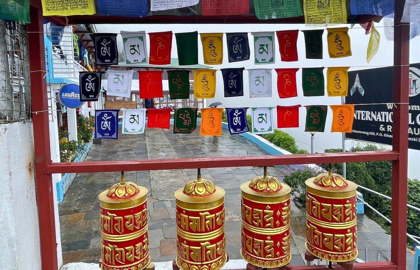
[{"label": "black signboard with white lettering and folded hands, behind right post", "polygon": [[[410,65],[407,80],[410,103],[408,143],[410,149],[420,150],[420,63]],[[408,106],[392,103],[392,89],[393,67],[349,71],[346,104],[355,106],[352,133],[346,133],[346,139],[392,144],[392,108]]]}]

